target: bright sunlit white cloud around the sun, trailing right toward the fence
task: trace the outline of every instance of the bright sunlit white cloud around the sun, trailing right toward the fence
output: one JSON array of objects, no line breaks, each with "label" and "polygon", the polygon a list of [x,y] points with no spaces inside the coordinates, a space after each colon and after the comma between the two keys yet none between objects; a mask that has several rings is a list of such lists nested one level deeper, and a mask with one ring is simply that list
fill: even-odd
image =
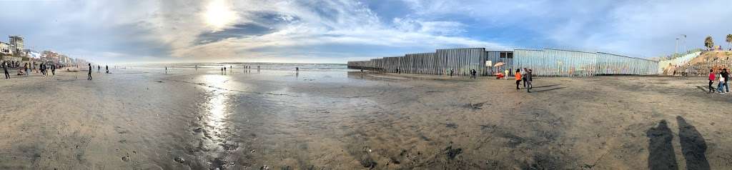
[{"label": "bright sunlit white cloud around the sun, trailing right toward the fence", "polygon": [[[235,24],[253,23],[261,13],[274,13],[288,23],[273,26],[276,31],[247,37],[230,37],[218,42],[196,44],[195,38],[210,28],[197,26],[195,14],[200,5],[165,4],[154,19],[149,21],[160,42],[173,48],[172,56],[209,59],[257,57],[264,48],[277,48],[287,52],[288,46],[307,45],[383,45],[444,48],[446,46],[498,47],[494,42],[484,42],[466,37],[463,24],[455,21],[422,21],[397,19],[395,24],[382,23],[378,15],[358,1],[236,1],[231,3],[242,18]],[[182,6],[182,7],[181,7]],[[176,9],[176,10],[165,10]],[[191,21],[193,20],[193,21]],[[407,25],[414,28],[407,28]],[[213,30],[221,31],[221,30]],[[272,51],[274,52],[274,51]],[[358,55],[358,54],[355,54]]]}]

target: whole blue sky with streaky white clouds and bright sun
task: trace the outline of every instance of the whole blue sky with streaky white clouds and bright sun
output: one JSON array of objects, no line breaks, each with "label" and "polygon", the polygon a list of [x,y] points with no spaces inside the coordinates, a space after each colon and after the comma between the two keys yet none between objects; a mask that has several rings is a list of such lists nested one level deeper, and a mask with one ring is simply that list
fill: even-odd
[{"label": "whole blue sky with streaky white clouds and bright sun", "polygon": [[[649,58],[706,36],[728,47],[732,1],[0,1],[0,34],[95,63],[327,62],[561,48]],[[7,38],[0,41],[7,42]]]}]

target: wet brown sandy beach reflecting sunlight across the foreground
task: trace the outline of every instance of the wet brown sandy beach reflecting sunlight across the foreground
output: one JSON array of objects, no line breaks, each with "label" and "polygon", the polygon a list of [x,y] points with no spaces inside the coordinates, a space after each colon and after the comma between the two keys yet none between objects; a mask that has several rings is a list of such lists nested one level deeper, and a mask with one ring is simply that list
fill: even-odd
[{"label": "wet brown sandy beach reflecting sunlight across the foreground", "polygon": [[732,166],[732,95],[703,77],[57,74],[0,80],[0,169]]}]

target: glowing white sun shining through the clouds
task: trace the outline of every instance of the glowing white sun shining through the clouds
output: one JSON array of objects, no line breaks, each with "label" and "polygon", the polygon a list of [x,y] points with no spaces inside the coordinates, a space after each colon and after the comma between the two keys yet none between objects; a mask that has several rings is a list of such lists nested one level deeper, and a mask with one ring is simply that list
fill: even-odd
[{"label": "glowing white sun shining through the clouds", "polygon": [[221,31],[226,26],[231,25],[238,19],[236,11],[231,10],[231,7],[226,0],[212,0],[206,5],[206,11],[203,12],[203,21],[206,22],[206,26],[211,27],[214,32]]}]

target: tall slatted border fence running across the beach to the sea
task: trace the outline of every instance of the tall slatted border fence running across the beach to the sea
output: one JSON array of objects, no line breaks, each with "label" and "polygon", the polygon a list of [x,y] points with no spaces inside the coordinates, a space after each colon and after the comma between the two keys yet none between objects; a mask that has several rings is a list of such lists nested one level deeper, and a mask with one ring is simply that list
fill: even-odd
[{"label": "tall slatted border fence running across the beach to the sea", "polygon": [[[501,64],[499,64],[501,63]],[[348,68],[387,73],[466,76],[470,70],[493,75],[529,68],[538,76],[656,75],[659,63],[611,53],[558,49],[485,51],[485,48],[438,49],[435,53],[407,53],[368,61],[348,62]]]}]

